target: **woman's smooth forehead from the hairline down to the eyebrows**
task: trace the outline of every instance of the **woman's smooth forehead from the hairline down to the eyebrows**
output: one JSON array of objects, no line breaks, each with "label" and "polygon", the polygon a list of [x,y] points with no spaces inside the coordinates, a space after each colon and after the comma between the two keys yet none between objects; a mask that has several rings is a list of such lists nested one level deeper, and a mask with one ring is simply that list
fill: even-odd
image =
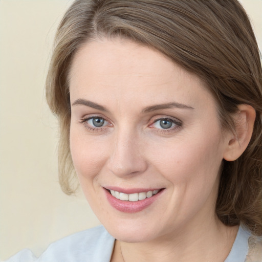
[{"label": "woman's smooth forehead from the hairline down to the eyebrows", "polygon": [[123,39],[85,43],[74,56],[69,80],[74,99],[134,98],[142,104],[212,100],[199,77],[156,50]]}]

